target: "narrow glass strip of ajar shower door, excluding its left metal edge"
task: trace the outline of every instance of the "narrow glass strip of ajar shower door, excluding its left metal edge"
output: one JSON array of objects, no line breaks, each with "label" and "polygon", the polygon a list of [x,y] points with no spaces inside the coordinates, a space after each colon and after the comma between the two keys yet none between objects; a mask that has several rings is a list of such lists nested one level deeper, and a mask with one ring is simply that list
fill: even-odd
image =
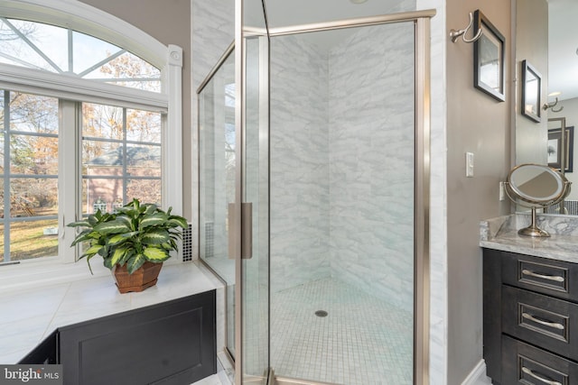
[{"label": "narrow glass strip of ajar shower door, excluding its left metal edge", "polygon": [[[269,368],[269,186],[266,37],[245,40],[240,262],[242,383],[266,383]],[[249,218],[247,218],[247,215]],[[249,250],[250,249],[250,250]]]}]

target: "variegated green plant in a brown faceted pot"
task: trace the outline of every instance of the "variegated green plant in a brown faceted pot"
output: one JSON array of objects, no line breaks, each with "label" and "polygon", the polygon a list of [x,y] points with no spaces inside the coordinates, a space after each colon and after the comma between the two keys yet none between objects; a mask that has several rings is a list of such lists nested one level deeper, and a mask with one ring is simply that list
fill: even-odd
[{"label": "variegated green plant in a brown faceted pot", "polygon": [[177,241],[187,221],[179,215],[171,215],[151,203],[138,199],[118,207],[116,213],[97,213],[86,219],[69,224],[83,227],[70,246],[88,243],[79,259],[100,255],[104,265],[112,270],[121,293],[142,291],[156,284],[163,261],[178,251]]}]

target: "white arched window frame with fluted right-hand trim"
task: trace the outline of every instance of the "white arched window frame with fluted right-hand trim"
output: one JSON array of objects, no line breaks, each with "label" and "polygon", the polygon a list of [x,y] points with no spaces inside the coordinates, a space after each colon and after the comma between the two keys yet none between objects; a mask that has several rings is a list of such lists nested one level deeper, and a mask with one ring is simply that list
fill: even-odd
[{"label": "white arched window frame with fluted right-hand trim", "polygon": [[[174,214],[182,215],[182,48],[172,44],[165,46],[134,25],[77,0],[0,0],[0,14],[87,33],[122,47],[161,69],[162,89],[155,93],[0,63],[0,89],[60,98],[61,123],[73,119],[71,115],[74,114],[73,103],[64,102],[65,99],[163,113],[163,206],[172,206]],[[62,127],[67,125],[61,125],[61,133]],[[68,141],[79,141],[79,133],[74,137],[70,133],[66,136],[60,135],[59,147],[62,144],[62,148],[70,148]],[[79,164],[59,163],[60,175],[79,175]],[[59,258],[63,262],[74,261],[73,249],[66,247],[72,242],[74,232],[65,224],[80,219],[76,213],[81,213],[79,198],[70,197],[70,191],[78,196],[81,185],[79,181],[70,180],[62,179],[61,182],[59,179]],[[77,205],[70,205],[70,202],[77,202]]]}]

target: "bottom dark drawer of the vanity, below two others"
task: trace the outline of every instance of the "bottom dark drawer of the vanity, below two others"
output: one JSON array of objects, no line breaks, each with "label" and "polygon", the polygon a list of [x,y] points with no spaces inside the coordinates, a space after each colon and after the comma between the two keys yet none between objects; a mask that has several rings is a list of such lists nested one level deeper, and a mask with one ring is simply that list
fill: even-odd
[{"label": "bottom dark drawer of the vanity, below two others", "polygon": [[504,335],[502,338],[504,385],[573,385],[578,364]]}]

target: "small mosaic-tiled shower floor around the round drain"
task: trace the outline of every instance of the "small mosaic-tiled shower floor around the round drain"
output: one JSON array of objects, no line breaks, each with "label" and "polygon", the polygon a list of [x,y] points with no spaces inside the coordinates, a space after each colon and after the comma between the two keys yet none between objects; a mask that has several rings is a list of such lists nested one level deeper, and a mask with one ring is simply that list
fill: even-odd
[{"label": "small mosaic-tiled shower floor around the round drain", "polygon": [[272,293],[271,361],[288,378],[412,384],[413,316],[338,280]]}]

